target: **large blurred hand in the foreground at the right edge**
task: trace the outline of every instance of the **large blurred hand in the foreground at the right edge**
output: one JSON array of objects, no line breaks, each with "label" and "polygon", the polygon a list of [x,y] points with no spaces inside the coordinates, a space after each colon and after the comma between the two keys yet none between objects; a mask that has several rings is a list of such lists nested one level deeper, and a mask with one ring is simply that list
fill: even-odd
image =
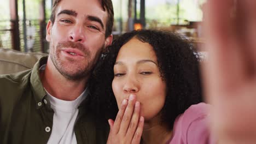
[{"label": "large blurred hand in the foreground at the right edge", "polygon": [[203,84],[218,143],[256,143],[256,1],[208,0]]}]

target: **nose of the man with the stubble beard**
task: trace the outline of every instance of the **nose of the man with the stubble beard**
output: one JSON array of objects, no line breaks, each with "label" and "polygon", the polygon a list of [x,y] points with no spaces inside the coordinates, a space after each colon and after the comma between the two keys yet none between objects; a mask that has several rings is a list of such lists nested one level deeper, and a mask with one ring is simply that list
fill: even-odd
[{"label": "nose of the man with the stubble beard", "polygon": [[84,27],[79,24],[75,25],[69,33],[68,40],[83,43],[85,41]]}]

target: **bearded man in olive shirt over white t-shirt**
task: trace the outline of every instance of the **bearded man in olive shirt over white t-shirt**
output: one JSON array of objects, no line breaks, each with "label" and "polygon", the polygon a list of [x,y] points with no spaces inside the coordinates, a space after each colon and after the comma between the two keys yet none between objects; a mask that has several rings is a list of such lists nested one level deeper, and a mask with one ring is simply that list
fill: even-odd
[{"label": "bearded man in olive shirt over white t-shirt", "polygon": [[0,77],[0,143],[106,143],[91,112],[88,79],[112,43],[111,0],[56,0],[46,27],[49,57]]}]

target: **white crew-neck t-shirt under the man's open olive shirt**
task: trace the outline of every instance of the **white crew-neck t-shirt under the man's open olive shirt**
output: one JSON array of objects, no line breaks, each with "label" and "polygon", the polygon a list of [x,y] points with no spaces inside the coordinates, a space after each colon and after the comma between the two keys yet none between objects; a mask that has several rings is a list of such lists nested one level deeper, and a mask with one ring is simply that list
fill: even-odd
[{"label": "white crew-neck t-shirt under the man's open olive shirt", "polygon": [[[46,91],[46,90],[45,90]],[[46,91],[46,93],[48,93]],[[77,143],[74,133],[74,124],[77,120],[78,106],[85,99],[85,91],[73,101],[57,99],[48,93],[47,99],[50,101],[51,109],[54,110],[53,128],[48,140],[52,143]]]}]

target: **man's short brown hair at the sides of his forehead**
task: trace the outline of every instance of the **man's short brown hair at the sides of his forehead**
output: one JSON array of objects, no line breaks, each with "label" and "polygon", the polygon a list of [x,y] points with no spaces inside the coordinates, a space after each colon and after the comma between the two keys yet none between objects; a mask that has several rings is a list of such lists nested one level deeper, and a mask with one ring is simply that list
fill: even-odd
[{"label": "man's short brown hair at the sides of his forehead", "polygon": [[[107,38],[112,33],[113,23],[114,23],[114,10],[112,0],[98,0],[101,2],[101,6],[103,10],[107,10],[108,13],[108,20],[106,25],[106,33],[105,37]],[[51,10],[51,17],[50,21],[54,24],[55,22],[55,13],[57,5],[61,2],[61,0],[54,0],[53,1],[53,9]]]}]

